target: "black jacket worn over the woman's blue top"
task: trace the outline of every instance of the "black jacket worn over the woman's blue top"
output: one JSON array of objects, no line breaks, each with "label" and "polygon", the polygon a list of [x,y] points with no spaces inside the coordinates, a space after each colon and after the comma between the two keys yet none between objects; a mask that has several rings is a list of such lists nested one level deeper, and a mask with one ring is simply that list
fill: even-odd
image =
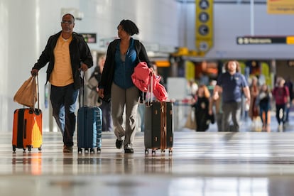
[{"label": "black jacket worn over the woman's blue top", "polygon": [[[116,45],[119,44],[119,39],[113,40],[109,43],[107,48],[107,58],[104,63],[104,68],[102,72],[101,81],[99,82],[99,89],[104,89],[104,101],[109,102],[111,97],[111,85],[114,80],[114,67],[115,67],[115,53],[116,53]],[[146,53],[146,49],[143,44],[139,40],[134,40],[135,49],[137,53],[136,64],[138,62],[146,62],[148,67],[153,67],[151,62],[148,59],[148,55]],[[142,96],[142,93],[140,93]]]}]

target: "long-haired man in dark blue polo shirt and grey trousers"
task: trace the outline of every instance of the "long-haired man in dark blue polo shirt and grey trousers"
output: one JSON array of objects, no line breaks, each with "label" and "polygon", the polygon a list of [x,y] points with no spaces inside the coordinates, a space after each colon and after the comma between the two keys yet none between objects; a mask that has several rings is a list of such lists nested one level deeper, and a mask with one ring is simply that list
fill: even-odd
[{"label": "long-haired man in dark blue polo shirt and grey trousers", "polygon": [[219,92],[222,91],[222,131],[229,131],[230,116],[233,123],[232,131],[239,131],[242,96],[245,94],[246,104],[250,104],[250,90],[244,75],[239,72],[238,61],[229,60],[224,66],[226,72],[219,75],[213,99],[219,99]]}]

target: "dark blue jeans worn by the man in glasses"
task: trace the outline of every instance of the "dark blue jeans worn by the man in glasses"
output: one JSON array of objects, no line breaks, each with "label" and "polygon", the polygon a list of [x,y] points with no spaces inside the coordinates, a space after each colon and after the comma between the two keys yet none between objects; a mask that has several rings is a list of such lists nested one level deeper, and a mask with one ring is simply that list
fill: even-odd
[{"label": "dark blue jeans worn by the man in glasses", "polygon": [[53,107],[53,117],[62,133],[65,146],[73,146],[72,137],[75,133],[75,102],[79,89],[74,85],[56,87],[51,85],[50,101]]}]

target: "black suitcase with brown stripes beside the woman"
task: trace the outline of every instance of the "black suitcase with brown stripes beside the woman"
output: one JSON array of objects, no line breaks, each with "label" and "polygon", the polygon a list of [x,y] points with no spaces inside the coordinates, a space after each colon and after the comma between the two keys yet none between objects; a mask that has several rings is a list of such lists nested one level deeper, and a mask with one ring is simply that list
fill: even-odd
[{"label": "black suitcase with brown stripes beside the woman", "polygon": [[152,153],[160,149],[173,153],[173,103],[151,102],[146,104],[145,130],[144,130],[145,153],[151,148]]}]

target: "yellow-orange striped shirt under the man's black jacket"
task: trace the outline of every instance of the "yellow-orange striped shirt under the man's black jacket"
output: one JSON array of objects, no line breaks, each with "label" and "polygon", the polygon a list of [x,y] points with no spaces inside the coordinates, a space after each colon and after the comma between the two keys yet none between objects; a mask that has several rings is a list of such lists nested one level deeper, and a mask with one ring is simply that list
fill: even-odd
[{"label": "yellow-orange striped shirt under the man's black jacket", "polygon": [[70,63],[70,42],[72,36],[65,40],[60,37],[54,48],[55,64],[49,82],[57,87],[65,87],[74,82]]}]

